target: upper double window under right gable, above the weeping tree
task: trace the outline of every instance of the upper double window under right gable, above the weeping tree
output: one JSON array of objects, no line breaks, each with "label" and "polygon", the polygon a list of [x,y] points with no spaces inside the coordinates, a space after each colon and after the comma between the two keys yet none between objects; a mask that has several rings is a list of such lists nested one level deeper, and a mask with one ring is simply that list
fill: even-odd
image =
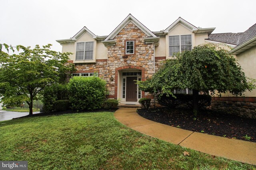
[{"label": "upper double window under right gable, above the weeping tree", "polygon": [[192,38],[191,35],[176,35],[169,36],[169,56],[173,53],[181,51],[191,51],[192,49]]}]

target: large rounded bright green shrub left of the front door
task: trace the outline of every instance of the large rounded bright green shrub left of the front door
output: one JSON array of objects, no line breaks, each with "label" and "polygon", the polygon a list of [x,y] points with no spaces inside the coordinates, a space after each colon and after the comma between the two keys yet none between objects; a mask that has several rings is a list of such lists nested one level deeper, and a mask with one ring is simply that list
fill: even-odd
[{"label": "large rounded bright green shrub left of the front door", "polygon": [[102,107],[106,82],[98,77],[73,77],[68,82],[72,109],[93,110]]}]

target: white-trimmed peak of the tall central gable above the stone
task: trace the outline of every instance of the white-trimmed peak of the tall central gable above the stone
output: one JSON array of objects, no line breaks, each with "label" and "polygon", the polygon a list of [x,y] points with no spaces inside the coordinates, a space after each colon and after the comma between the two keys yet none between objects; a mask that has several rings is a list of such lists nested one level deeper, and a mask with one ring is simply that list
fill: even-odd
[{"label": "white-trimmed peak of the tall central gable above the stone", "polygon": [[115,29],[106,37],[104,41],[108,41],[110,39],[113,39],[129,22],[134,23],[139,29],[141,29],[146,35],[149,37],[156,37],[154,33],[152,33],[147,27],[145,27],[140,21],[138,21],[132,14],[129,14]]}]

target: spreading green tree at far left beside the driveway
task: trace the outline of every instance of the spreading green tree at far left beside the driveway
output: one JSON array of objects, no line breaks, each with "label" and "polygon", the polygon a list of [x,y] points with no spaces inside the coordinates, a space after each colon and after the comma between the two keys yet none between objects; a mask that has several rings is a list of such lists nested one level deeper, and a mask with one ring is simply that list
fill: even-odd
[{"label": "spreading green tree at far left beside the driveway", "polygon": [[36,45],[34,49],[18,45],[19,54],[8,55],[0,51],[0,97],[7,106],[26,102],[32,115],[33,100],[46,86],[63,81],[66,73],[74,70],[66,64],[68,55],[50,50],[50,44]]}]

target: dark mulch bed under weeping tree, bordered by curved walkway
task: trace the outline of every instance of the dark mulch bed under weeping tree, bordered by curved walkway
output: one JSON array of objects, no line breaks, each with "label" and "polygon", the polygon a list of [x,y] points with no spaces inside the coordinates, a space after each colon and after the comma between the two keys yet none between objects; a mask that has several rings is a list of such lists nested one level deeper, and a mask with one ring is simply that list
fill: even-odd
[{"label": "dark mulch bed under weeping tree, bordered by curved walkway", "polygon": [[251,142],[256,142],[256,119],[207,110],[201,111],[195,117],[191,110],[165,107],[138,109],[137,112],[146,119],[166,125],[244,141],[248,141],[245,139],[247,135],[251,137]]}]

